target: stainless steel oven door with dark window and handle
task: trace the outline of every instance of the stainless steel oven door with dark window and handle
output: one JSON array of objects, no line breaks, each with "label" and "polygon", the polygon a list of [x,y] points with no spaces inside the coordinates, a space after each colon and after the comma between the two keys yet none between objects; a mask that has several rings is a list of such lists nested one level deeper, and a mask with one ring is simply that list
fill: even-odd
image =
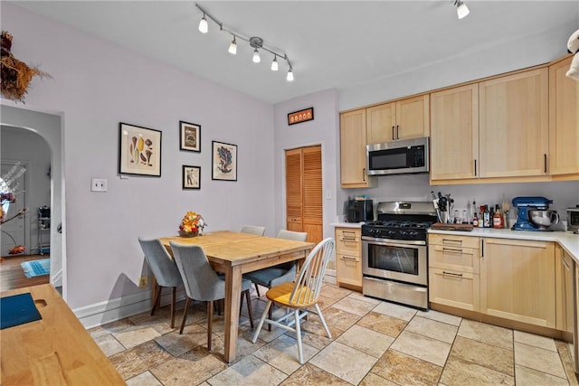
[{"label": "stainless steel oven door with dark window and handle", "polygon": [[362,274],[428,285],[425,241],[362,237]]}]

